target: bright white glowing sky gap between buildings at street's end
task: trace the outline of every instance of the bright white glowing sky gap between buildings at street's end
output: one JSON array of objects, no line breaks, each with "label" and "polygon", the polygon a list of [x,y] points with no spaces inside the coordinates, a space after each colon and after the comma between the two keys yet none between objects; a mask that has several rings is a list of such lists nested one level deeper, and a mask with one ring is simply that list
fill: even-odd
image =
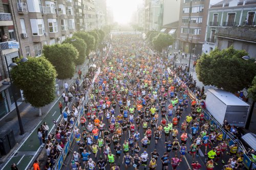
[{"label": "bright white glowing sky gap between buildings at street's end", "polygon": [[137,5],[142,0],[107,0],[108,6],[113,11],[114,21],[118,23],[129,23]]}]

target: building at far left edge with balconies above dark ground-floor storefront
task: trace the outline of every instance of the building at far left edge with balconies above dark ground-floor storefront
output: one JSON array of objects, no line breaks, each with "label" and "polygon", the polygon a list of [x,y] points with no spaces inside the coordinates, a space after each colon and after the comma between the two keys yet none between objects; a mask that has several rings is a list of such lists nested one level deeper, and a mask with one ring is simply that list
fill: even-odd
[{"label": "building at far left edge with balconies above dark ground-floor storefront", "polygon": [[[3,81],[9,77],[7,66],[18,58],[18,47],[12,6],[8,0],[0,1],[0,117],[15,109],[13,95],[17,104],[22,101],[20,91],[14,87],[12,93],[10,85],[3,85]],[[10,68],[11,69],[11,68]]]}]

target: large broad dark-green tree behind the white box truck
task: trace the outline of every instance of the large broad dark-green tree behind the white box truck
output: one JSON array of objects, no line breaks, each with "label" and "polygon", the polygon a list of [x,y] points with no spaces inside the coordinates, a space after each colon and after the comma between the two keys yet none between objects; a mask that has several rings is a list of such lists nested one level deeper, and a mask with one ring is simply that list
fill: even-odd
[{"label": "large broad dark-green tree behind the white box truck", "polygon": [[230,92],[249,87],[256,74],[256,64],[243,60],[245,55],[248,55],[246,51],[235,50],[233,46],[203,54],[196,65],[199,81]]}]

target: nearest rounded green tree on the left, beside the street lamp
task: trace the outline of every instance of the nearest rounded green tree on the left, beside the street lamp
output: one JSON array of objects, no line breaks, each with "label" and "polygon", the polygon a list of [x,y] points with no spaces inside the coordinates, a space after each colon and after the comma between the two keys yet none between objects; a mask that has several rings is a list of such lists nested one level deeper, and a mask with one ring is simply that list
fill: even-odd
[{"label": "nearest rounded green tree on the left, beside the street lamp", "polygon": [[25,102],[33,107],[44,107],[55,99],[56,70],[45,58],[29,58],[11,69],[13,84],[23,90]]}]

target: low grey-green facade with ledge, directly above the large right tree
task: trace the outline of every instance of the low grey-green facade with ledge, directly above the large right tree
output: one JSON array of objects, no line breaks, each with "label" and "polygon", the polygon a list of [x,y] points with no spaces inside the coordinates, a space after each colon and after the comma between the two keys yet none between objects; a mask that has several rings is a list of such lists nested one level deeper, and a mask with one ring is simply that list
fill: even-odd
[{"label": "low grey-green facade with ledge, directly above the large right tree", "polygon": [[[253,36],[254,35],[254,36]],[[251,58],[256,59],[256,27],[223,27],[215,33],[215,40],[219,50],[233,45],[236,50],[245,50]]]}]

